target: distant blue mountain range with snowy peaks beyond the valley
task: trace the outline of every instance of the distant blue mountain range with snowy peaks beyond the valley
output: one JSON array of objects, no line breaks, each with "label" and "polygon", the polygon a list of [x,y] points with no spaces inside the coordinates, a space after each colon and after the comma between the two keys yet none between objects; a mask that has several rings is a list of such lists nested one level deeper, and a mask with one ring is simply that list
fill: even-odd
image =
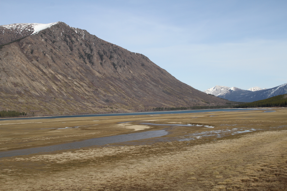
[{"label": "distant blue mountain range with snowy peaks beyond the valley", "polygon": [[239,89],[237,87],[215,86],[204,91],[219,98],[224,98],[235,102],[254,102],[257,100],[264,100],[273,96],[278,96],[287,93],[287,83],[270,88],[261,89],[253,87],[248,90]]}]

